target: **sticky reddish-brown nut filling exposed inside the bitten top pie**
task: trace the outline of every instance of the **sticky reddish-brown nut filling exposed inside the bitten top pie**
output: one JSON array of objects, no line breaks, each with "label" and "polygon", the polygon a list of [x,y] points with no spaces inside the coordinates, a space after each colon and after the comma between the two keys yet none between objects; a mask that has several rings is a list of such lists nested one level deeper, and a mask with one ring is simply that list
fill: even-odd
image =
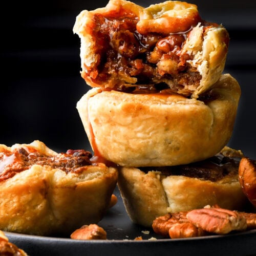
[{"label": "sticky reddish-brown nut filling exposed inside the bitten top pie", "polygon": [[[218,26],[200,22],[205,30]],[[102,90],[157,93],[168,89],[189,96],[202,77],[187,62],[193,56],[182,53],[182,46],[197,24],[175,34],[142,35],[136,30],[137,23],[133,14],[95,14],[87,29],[96,41],[98,62],[93,67],[84,65],[82,77]]]}]

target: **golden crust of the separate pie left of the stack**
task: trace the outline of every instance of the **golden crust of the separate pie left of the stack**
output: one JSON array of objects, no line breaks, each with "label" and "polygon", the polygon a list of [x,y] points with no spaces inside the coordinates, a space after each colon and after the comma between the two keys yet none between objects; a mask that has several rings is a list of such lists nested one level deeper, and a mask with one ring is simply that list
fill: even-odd
[{"label": "golden crust of the separate pie left of the stack", "polygon": [[[0,146],[1,173],[18,166],[14,152],[24,148],[50,158],[60,157],[44,143]],[[32,156],[33,157],[33,156]],[[4,160],[3,160],[4,159]],[[8,159],[10,161],[8,161]],[[42,159],[42,157],[41,157]],[[11,161],[12,160],[12,161]],[[117,182],[117,169],[99,163],[66,172],[47,163],[36,164],[0,181],[0,229],[36,235],[71,234],[84,224],[97,223],[109,207]]]}]

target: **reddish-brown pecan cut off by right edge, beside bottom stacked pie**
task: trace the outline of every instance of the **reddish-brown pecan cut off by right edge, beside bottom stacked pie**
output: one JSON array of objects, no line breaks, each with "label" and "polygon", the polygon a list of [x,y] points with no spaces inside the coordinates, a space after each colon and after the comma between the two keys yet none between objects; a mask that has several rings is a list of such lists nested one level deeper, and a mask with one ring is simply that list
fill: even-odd
[{"label": "reddish-brown pecan cut off by right edge, beside bottom stacked pie", "polygon": [[247,157],[241,159],[239,164],[239,182],[244,194],[256,207],[256,161]]}]

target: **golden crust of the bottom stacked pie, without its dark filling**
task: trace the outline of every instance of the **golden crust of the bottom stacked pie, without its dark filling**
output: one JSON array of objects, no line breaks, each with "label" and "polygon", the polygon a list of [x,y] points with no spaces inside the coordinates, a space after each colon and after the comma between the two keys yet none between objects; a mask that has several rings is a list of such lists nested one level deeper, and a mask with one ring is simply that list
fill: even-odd
[{"label": "golden crust of the bottom stacked pie, without its dark filling", "polygon": [[242,209],[247,203],[238,174],[210,181],[122,167],[119,169],[118,187],[131,220],[147,227],[155,218],[168,212],[215,204],[226,209]]}]

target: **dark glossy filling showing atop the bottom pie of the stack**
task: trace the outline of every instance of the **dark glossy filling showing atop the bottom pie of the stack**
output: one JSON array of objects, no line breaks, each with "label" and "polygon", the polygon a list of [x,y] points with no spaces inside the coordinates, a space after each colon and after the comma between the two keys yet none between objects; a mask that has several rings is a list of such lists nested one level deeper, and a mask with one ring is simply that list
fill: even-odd
[{"label": "dark glossy filling showing atop the bottom pie of the stack", "polygon": [[225,177],[238,176],[239,163],[239,158],[229,158],[219,154],[196,163],[164,167],[140,167],[139,169],[145,173],[152,170],[161,172],[163,177],[176,175],[216,182]]}]

